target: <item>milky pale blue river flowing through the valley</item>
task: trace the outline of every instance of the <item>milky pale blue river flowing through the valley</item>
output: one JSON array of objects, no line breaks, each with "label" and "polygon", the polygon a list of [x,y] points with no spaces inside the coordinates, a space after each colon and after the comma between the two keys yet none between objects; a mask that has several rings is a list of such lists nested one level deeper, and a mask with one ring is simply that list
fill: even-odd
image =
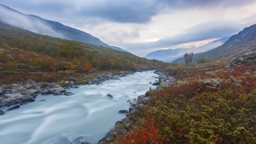
[{"label": "milky pale blue river flowing through the valley", "polygon": [[[92,144],[104,137],[115,122],[125,118],[127,99],[145,94],[149,82],[158,80],[153,71],[137,72],[100,85],[70,89],[73,96],[39,95],[34,102],[0,116],[0,144]],[[106,97],[111,94],[114,98]],[[45,99],[45,101],[40,101]],[[3,108],[6,111],[7,108]]]}]

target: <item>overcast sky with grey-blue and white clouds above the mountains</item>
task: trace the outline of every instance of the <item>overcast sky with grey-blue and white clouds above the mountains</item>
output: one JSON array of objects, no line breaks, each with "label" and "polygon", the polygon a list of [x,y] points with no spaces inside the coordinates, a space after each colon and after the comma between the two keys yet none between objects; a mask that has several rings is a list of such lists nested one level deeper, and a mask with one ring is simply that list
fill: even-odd
[{"label": "overcast sky with grey-blue and white clouds above the mountains", "polygon": [[138,56],[200,47],[256,23],[256,0],[1,0]]}]

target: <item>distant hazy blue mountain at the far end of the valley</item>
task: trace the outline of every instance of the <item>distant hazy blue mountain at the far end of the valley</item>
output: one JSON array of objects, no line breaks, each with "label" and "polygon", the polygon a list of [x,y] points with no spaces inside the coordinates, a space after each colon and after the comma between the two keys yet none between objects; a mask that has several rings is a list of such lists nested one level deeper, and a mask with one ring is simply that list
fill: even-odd
[{"label": "distant hazy blue mountain at the far end of the valley", "polygon": [[162,60],[164,62],[171,62],[177,58],[182,57],[182,55],[185,52],[205,52],[210,49],[216,48],[218,46],[221,46],[224,44],[227,39],[230,37],[224,37],[218,40],[214,40],[206,45],[203,45],[199,48],[176,48],[176,49],[165,49],[165,50],[157,50],[149,53],[148,55],[145,56],[147,59],[157,59],[157,60]]}]

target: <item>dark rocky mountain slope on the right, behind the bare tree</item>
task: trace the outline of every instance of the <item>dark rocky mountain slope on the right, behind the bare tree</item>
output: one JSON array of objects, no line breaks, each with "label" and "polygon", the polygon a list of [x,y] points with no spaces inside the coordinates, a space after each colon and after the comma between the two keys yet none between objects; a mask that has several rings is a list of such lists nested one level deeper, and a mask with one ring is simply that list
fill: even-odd
[{"label": "dark rocky mountain slope on the right, behind the bare tree", "polygon": [[[197,53],[193,56],[193,63],[199,58],[205,57],[213,62],[232,61],[234,58],[244,55],[249,52],[256,51],[256,24],[246,27],[243,31],[231,36],[223,45],[212,50]],[[184,63],[184,59],[178,58],[172,62]]]}]

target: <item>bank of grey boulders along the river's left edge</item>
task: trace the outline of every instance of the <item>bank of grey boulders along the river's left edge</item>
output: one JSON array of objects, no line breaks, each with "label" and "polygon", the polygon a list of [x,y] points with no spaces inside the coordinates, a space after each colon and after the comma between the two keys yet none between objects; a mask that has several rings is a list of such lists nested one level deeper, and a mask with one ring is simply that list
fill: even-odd
[{"label": "bank of grey boulders along the river's left edge", "polygon": [[[141,70],[135,70],[141,71]],[[121,71],[118,74],[116,73],[100,73],[97,75],[82,75],[80,76],[80,82],[74,81],[61,81],[53,83],[39,83],[32,79],[28,79],[25,83],[15,83],[10,85],[0,85],[0,108],[1,107],[10,107],[8,109],[16,109],[26,104],[28,102],[34,101],[38,94],[42,95],[73,95],[74,93],[69,92],[70,88],[78,88],[82,85],[91,85],[91,84],[102,84],[102,82],[107,80],[116,80],[120,77],[133,74],[132,71]],[[1,110],[1,109],[0,109]],[[5,111],[7,112],[7,111]],[[5,113],[0,111],[0,115]]]}]

